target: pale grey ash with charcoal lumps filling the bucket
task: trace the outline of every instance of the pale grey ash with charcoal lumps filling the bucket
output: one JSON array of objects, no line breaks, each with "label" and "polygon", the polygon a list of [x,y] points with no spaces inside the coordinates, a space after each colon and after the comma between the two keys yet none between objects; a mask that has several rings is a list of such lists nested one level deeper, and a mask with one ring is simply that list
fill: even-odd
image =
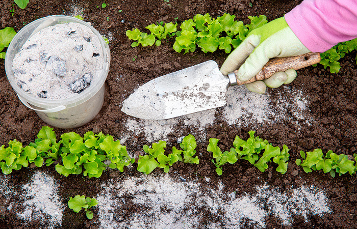
[{"label": "pale grey ash with charcoal lumps filling the bucket", "polygon": [[24,43],[13,60],[17,85],[46,99],[82,93],[103,69],[98,37],[80,23],[49,26]]}]

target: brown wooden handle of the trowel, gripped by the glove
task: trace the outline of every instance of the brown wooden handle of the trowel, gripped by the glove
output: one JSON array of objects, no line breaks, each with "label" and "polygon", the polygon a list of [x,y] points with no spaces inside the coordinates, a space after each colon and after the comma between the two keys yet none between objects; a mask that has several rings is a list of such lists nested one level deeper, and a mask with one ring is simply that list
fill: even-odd
[{"label": "brown wooden handle of the trowel, gripped by the glove", "polygon": [[[297,56],[289,56],[285,58],[274,58],[271,59],[263,69],[253,78],[247,81],[240,81],[237,79],[237,85],[242,85],[245,83],[251,83],[257,80],[267,79],[276,72],[284,72],[288,69],[298,70],[300,68],[308,67],[313,64],[319,63],[321,60],[320,53],[309,52]],[[238,70],[234,71],[237,78]]]}]

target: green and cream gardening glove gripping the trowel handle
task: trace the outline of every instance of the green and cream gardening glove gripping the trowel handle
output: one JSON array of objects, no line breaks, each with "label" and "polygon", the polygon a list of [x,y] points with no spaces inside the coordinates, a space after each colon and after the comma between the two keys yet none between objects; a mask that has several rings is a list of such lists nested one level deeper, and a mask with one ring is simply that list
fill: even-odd
[{"label": "green and cream gardening glove gripping the trowel handle", "polygon": [[[237,78],[247,81],[257,75],[271,58],[301,55],[310,52],[295,36],[284,17],[252,30],[248,37],[224,61],[220,71],[227,75],[239,69]],[[277,72],[268,79],[247,83],[249,91],[263,94],[266,87],[277,88],[292,82],[296,71]]]}]

